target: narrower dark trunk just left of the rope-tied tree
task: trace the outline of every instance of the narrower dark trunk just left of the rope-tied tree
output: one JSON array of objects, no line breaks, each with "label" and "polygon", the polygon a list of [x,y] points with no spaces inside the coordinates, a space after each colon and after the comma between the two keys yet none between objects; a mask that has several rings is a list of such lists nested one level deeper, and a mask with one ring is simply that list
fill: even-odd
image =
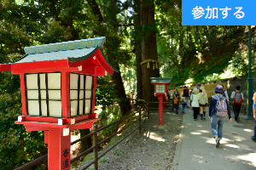
[{"label": "narrower dark trunk just left of the rope-tied tree", "polygon": [[137,67],[137,99],[143,99],[143,79],[142,79],[142,25],[141,25],[141,4],[134,0],[134,30],[135,30],[135,54]]}]

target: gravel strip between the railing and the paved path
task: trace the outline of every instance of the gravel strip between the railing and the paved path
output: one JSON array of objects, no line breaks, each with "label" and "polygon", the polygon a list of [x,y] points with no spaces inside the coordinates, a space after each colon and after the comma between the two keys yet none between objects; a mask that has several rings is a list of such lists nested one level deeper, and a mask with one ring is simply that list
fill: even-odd
[{"label": "gravel strip between the railing and the paved path", "polygon": [[[174,111],[164,111],[164,128],[158,128],[158,111],[150,112],[149,119],[143,119],[142,134],[138,132],[131,134],[108,154],[102,156],[101,161],[103,159],[104,162],[99,161],[99,169],[172,168],[183,114],[181,111],[179,114],[175,114]],[[132,129],[134,127],[131,127]],[[129,133],[128,131],[126,133]]]}]

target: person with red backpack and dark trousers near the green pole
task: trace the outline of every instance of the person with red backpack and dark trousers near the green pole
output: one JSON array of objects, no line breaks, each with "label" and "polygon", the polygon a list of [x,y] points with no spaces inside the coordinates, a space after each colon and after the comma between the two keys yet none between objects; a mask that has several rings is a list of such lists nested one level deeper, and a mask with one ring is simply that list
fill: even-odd
[{"label": "person with red backpack and dark trousers near the green pole", "polygon": [[241,110],[241,102],[244,99],[243,94],[240,92],[241,87],[236,86],[236,91],[232,92],[231,99],[234,99],[233,101],[233,111],[235,114],[235,121],[240,122],[239,112]]}]

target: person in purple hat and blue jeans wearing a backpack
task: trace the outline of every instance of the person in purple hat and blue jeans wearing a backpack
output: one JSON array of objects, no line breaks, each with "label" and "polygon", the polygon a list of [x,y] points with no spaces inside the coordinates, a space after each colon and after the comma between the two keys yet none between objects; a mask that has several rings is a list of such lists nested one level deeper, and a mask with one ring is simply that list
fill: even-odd
[{"label": "person in purple hat and blue jeans wearing a backpack", "polygon": [[220,140],[222,139],[225,116],[229,115],[229,122],[232,120],[230,116],[230,106],[228,105],[227,99],[222,95],[224,88],[221,85],[217,85],[213,90],[216,94],[212,95],[210,99],[209,118],[212,125],[212,135],[216,141],[215,146],[218,148]]}]

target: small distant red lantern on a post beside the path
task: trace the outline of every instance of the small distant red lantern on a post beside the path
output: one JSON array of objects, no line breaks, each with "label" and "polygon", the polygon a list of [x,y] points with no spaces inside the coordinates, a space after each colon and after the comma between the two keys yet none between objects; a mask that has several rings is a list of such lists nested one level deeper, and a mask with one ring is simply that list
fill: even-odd
[{"label": "small distant red lantern on a post beside the path", "polygon": [[159,125],[163,126],[163,99],[166,102],[168,86],[170,86],[172,78],[150,77],[150,79],[151,84],[154,85],[154,96],[158,97]]}]

